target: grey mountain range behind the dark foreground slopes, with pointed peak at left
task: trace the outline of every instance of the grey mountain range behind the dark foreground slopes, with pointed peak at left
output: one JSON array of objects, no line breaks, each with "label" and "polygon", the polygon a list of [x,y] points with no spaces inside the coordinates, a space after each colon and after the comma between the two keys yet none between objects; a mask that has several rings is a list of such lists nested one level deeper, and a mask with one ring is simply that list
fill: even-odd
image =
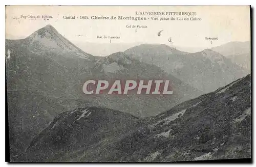
[{"label": "grey mountain range behind the dark foreground slopes, with pointed peak at left", "polygon": [[[63,131],[58,131],[58,128],[63,129],[61,126],[69,126],[73,119],[80,122],[87,116],[93,116],[96,119],[89,122],[90,124],[99,123],[100,125],[90,129],[87,127],[88,124],[80,126],[79,123],[75,123],[69,130],[77,133],[78,139],[74,140],[77,140],[75,143],[79,144],[79,147],[90,145],[90,149],[94,149],[94,145],[99,146],[98,142],[103,138],[115,140],[116,136],[125,135],[127,131],[122,129],[122,126],[137,131],[142,125],[147,126],[148,118],[146,117],[157,116],[181,102],[215,91],[245,75],[243,68],[210,49],[187,53],[166,45],[144,44],[124,52],[112,53],[107,57],[95,57],[60,35],[53,26],[47,25],[25,39],[6,40],[11,159],[20,158],[25,150],[27,150],[26,156],[30,155],[28,152],[37,156],[38,152],[35,153],[33,148],[45,147],[38,142],[54,141],[55,137],[59,138],[61,133],[64,134]],[[169,79],[172,82],[174,94],[116,96],[86,95],[82,92],[84,82],[90,79],[127,78]],[[78,109],[74,110],[74,108]],[[72,110],[73,113],[63,113],[68,110]],[[90,113],[88,110],[98,112]],[[100,116],[101,113],[102,116]],[[79,114],[81,114],[80,119],[77,118]],[[112,120],[113,124],[102,119]],[[54,122],[58,122],[61,126],[56,126],[58,132],[52,133],[53,138],[51,138],[48,131],[49,127],[52,126],[50,131],[55,127]],[[121,124],[117,125],[116,122]],[[104,127],[105,124],[109,126]],[[105,133],[111,127],[116,127],[117,130],[113,132],[111,129]],[[81,135],[73,128],[81,132]],[[79,128],[89,131],[83,134],[83,130]],[[39,136],[38,133],[40,133]],[[47,133],[47,136],[43,133]],[[87,136],[88,133],[92,135]],[[55,150],[63,153],[60,147],[63,147],[65,142],[74,142],[73,135],[68,135],[66,139],[60,137],[59,141],[56,141],[60,142],[57,148],[55,148],[56,143],[53,143],[53,148],[50,148],[50,144],[47,153],[40,151],[38,157],[31,156],[31,159],[46,160],[49,158],[48,155],[51,155],[50,152],[54,154],[52,158],[56,159],[55,155],[59,152]],[[46,141],[41,138],[42,136],[46,137],[44,138]],[[65,141],[63,142],[62,139]],[[89,140],[89,143],[83,143],[84,140]],[[69,149],[74,150],[75,147],[71,145]],[[111,157],[112,154],[109,156]],[[28,160],[28,157],[25,159]]]}]

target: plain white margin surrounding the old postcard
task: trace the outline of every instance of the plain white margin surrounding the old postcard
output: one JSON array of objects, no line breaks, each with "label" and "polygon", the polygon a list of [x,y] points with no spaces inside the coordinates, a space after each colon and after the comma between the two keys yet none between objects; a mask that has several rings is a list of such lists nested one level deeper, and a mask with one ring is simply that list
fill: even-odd
[{"label": "plain white margin surrounding the old postcard", "polygon": [[[0,44],[0,47],[1,47],[1,57],[0,57],[0,76],[1,76],[1,107],[3,108],[2,110],[2,117],[1,117],[1,132],[3,134],[5,134],[5,117],[4,117],[4,113],[5,113],[5,90],[4,90],[4,87],[5,87],[5,5],[251,5],[252,7],[256,8],[256,5],[255,5],[255,0],[251,0],[251,1],[247,1],[247,0],[240,0],[240,1],[223,1],[223,0],[215,0],[215,1],[196,1],[196,0],[193,0],[193,1],[166,1],[166,0],[155,0],[155,1],[152,1],[152,0],[147,0],[147,1],[138,1],[138,0],[129,0],[129,1],[114,1],[114,0],[101,0],[101,1],[98,1],[98,0],[93,0],[93,1],[90,1],[90,2],[83,2],[83,1],[77,1],[77,0],[61,0],[61,1],[52,1],[52,0],[42,0],[42,1],[32,1],[32,0],[23,0],[23,1],[14,1],[14,0],[9,0],[7,2],[5,2],[6,4],[3,4],[1,5],[0,7],[0,11],[1,11],[1,22],[2,22],[2,26],[1,26],[1,44]],[[4,1],[1,1],[1,4],[4,3]],[[255,9],[254,9],[254,13],[253,13],[253,18],[255,18]],[[254,32],[254,29],[255,29],[255,26],[253,28],[253,32]],[[254,33],[253,33],[254,34]],[[251,41],[254,41],[254,36],[251,38]],[[255,48],[255,43],[253,43],[253,46],[251,46],[252,48]],[[254,50],[254,53],[255,53],[255,49]],[[252,57],[254,57],[254,54],[252,55]],[[253,59],[253,64],[255,64],[255,59]],[[252,76],[254,78],[254,76]],[[254,83],[254,80],[253,80],[253,88],[255,89],[255,83]],[[255,98],[253,98],[253,102],[255,102]],[[254,106],[255,107],[255,106]],[[254,109],[253,107],[253,109]],[[254,110],[252,110],[252,112],[254,113]],[[255,120],[255,115],[256,114],[253,114],[253,121]],[[252,121],[252,122],[253,122]],[[255,134],[255,122],[253,123],[253,136]],[[254,137],[253,137],[254,138]],[[15,164],[8,164],[7,162],[5,162],[5,137],[4,135],[2,135],[2,137],[0,138],[0,143],[1,143],[1,166],[2,165],[15,165]],[[253,143],[255,144],[255,143]],[[252,145],[254,146],[254,145]],[[253,159],[255,160],[255,154],[254,154],[254,150],[253,150]],[[23,166],[29,166],[31,164],[22,164]],[[37,165],[46,165],[44,163],[41,163],[41,164],[37,164]],[[49,166],[55,166],[55,165],[69,165],[69,166],[75,166],[75,165],[78,165],[78,164],[47,164]],[[97,166],[97,165],[101,165],[101,164],[79,164],[79,165],[87,165],[87,166]],[[149,164],[149,163],[146,163],[146,164],[120,164],[120,163],[117,163],[117,164],[105,164],[105,165],[127,165],[127,166],[134,166],[134,165],[181,165],[181,166],[185,166],[187,164],[175,164],[175,163],[169,163],[169,164]],[[205,164],[188,164],[188,165],[205,165]],[[218,166],[231,166],[231,165],[236,165],[236,164],[213,164],[213,165],[218,165]],[[244,164],[241,164],[241,165],[244,165]]]}]

